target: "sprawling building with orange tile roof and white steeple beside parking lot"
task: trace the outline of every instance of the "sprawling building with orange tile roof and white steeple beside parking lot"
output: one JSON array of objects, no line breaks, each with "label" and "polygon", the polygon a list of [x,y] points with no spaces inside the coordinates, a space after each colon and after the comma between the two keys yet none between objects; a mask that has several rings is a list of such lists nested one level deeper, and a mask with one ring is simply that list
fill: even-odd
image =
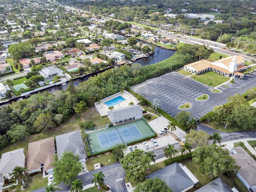
[{"label": "sprawling building with orange tile roof and white steeple beside parking lot", "polygon": [[201,74],[206,71],[213,71],[224,76],[240,76],[244,78],[241,71],[246,70],[249,66],[244,65],[244,58],[240,55],[222,58],[218,61],[210,62],[208,60],[200,60],[184,66],[184,70],[194,74]]}]

